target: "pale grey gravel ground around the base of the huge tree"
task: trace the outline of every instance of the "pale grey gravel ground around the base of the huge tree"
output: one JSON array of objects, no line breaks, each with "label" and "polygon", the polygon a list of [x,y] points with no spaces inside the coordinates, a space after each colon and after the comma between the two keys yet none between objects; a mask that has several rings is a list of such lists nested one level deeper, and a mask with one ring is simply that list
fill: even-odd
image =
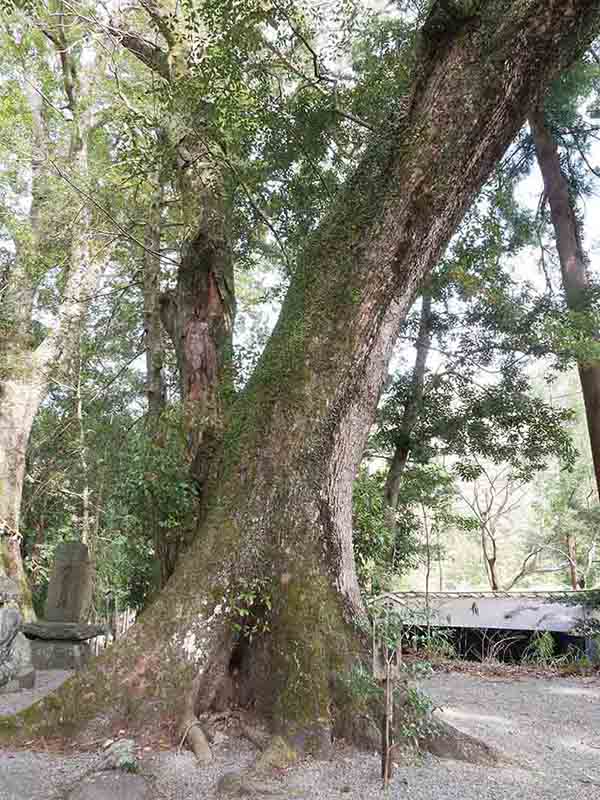
[{"label": "pale grey gravel ground around the base of the huge tree", "polygon": [[[429,691],[444,719],[495,745],[509,766],[484,768],[426,756],[401,766],[387,797],[415,800],[600,800],[600,679],[489,679],[438,674]],[[245,741],[226,740],[213,764],[191,754],[146,754],[157,800],[211,800],[217,780],[251,763]],[[97,756],[0,752],[0,800],[54,800],[94,768]],[[267,788],[267,787],[265,787]],[[274,779],[271,797],[381,798],[379,758],[340,748],[329,762],[305,761]],[[263,795],[265,796],[265,795]]]}]

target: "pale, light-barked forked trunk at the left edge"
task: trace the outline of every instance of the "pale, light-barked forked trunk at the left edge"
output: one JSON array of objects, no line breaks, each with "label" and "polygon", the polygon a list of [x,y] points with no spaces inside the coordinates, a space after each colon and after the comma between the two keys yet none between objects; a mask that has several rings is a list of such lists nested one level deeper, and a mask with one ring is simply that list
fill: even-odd
[{"label": "pale, light-barked forked trunk at the left edge", "polygon": [[[73,114],[69,156],[72,168],[80,175],[87,173],[87,136],[91,126],[91,103],[87,97],[92,76],[92,62],[78,72],[73,62],[62,22],[57,23],[54,41],[63,65],[65,92]],[[89,55],[89,52],[88,52]],[[75,80],[75,76],[77,76]],[[84,98],[83,110],[79,100]],[[89,296],[101,271],[101,261],[90,252],[91,212],[85,205],[71,231],[69,273],[53,329],[32,349],[33,283],[30,270],[41,256],[40,233],[42,196],[44,194],[46,152],[41,95],[31,90],[34,158],[32,160],[32,203],[29,214],[31,236],[16,242],[15,265],[9,273],[3,305],[7,334],[0,342],[0,525],[8,535],[0,539],[0,575],[6,574],[19,583],[20,607],[26,619],[35,617],[31,594],[27,587],[20,548],[19,521],[25,454],[33,421],[42,403],[51,374],[64,367],[78,344],[77,332]]]}]

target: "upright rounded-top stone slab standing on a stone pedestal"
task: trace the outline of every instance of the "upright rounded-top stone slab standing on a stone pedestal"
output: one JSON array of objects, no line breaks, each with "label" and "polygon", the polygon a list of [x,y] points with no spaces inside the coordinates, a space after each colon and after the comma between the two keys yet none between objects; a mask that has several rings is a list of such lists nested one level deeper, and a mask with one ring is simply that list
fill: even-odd
[{"label": "upright rounded-top stone slab standing on a stone pedestal", "polygon": [[45,618],[48,622],[85,621],[92,600],[92,564],[82,542],[62,542],[54,554]]}]

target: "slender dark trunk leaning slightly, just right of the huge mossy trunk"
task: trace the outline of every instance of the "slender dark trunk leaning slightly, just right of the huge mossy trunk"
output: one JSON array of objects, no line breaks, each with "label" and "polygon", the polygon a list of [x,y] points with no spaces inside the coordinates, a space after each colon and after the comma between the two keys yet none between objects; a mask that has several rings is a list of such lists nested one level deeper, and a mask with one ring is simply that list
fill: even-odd
[{"label": "slender dark trunk leaning slightly, just right of the huge mossy trunk", "polygon": [[392,456],[384,487],[384,498],[388,512],[388,524],[395,529],[395,515],[400,496],[400,483],[410,455],[410,436],[419,418],[425,386],[425,366],[431,347],[431,295],[423,293],[421,320],[416,342],[415,366],[410,391],[404,406],[402,422],[398,431],[397,444]]}]

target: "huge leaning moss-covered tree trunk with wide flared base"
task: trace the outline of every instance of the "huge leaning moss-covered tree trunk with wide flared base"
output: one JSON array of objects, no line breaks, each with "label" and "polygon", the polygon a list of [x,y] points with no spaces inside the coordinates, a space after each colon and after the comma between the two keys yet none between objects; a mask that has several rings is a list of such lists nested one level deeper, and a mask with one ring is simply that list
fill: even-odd
[{"label": "huge leaning moss-covered tree trunk with wide flared base", "polygon": [[399,326],[525,110],[600,16],[589,0],[484,7],[440,21],[434,6],[405,112],[307,243],[229,411],[196,539],[121,644],[28,712],[28,734],[235,699],[298,746],[328,741],[343,716],[334,676],[364,652],[352,482]]}]

